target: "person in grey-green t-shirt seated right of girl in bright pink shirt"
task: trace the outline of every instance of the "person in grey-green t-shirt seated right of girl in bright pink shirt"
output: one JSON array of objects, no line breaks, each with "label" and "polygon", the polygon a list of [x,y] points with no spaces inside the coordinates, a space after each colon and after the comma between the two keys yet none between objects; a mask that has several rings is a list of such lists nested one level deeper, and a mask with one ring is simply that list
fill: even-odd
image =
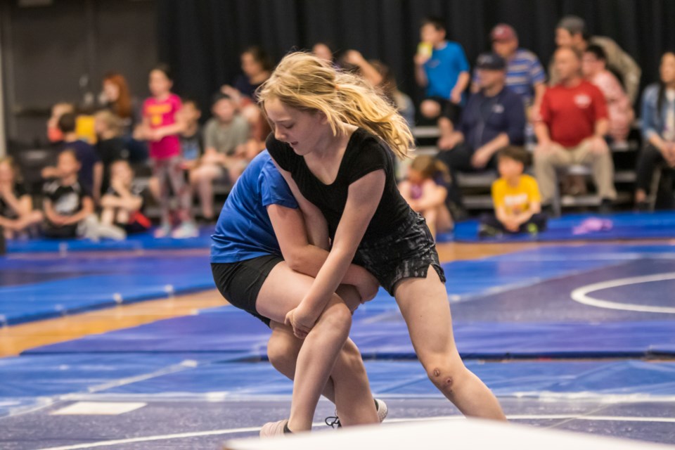
[{"label": "person in grey-green t-shirt seated right of girl in bright pink shirt", "polygon": [[243,155],[237,154],[236,149],[248,141],[249,132],[248,122],[230,96],[217,93],[213,98],[212,113],[213,117],[204,127],[204,155],[190,174],[191,186],[199,193],[206,220],[214,217],[213,181],[227,175],[234,183],[245,169]]}]

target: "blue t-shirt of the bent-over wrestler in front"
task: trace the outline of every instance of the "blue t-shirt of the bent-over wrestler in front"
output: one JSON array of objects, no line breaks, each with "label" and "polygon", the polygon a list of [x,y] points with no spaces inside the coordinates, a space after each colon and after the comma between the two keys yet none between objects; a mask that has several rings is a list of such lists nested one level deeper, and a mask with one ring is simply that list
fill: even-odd
[{"label": "blue t-shirt of the bent-over wrestler in front", "polygon": [[288,184],[264,150],[246,167],[227,197],[211,236],[211,262],[281,256],[266,210],[269,205],[298,207]]}]

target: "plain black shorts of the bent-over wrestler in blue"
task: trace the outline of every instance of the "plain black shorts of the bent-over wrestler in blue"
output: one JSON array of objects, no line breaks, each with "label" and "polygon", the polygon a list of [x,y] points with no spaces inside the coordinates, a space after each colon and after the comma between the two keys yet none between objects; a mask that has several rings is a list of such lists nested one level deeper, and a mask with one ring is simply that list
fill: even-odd
[{"label": "plain black shorts of the bent-over wrestler in blue", "polygon": [[258,314],[255,301],[269,273],[282,261],[280,256],[265,255],[240,262],[212,262],[213,281],[230,304],[269,326],[270,319]]}]

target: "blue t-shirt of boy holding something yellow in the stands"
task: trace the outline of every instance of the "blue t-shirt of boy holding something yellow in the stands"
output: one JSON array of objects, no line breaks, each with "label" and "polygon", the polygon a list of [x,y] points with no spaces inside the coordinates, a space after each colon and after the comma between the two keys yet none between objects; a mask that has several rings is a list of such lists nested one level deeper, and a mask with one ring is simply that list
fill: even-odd
[{"label": "blue t-shirt of boy holding something yellow in the stands", "polygon": [[442,49],[432,51],[424,70],[428,81],[427,96],[449,99],[459,74],[469,71],[469,62],[462,46],[448,41]]}]

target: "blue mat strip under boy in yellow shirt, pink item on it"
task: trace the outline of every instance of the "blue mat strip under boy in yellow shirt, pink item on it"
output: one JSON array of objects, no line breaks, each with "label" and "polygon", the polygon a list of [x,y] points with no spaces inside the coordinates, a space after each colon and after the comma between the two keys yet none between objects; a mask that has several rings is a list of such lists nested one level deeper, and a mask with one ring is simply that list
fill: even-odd
[{"label": "blue mat strip under boy in yellow shirt, pink item on it", "polygon": [[[602,219],[611,222],[611,229],[593,231],[589,219]],[[582,227],[584,223],[591,226]],[[582,227],[579,229],[579,227]],[[548,221],[548,229],[536,236],[521,234],[501,236],[499,238],[478,238],[478,221],[468,220],[456,224],[453,233],[440,235],[439,242],[455,240],[458,242],[527,242],[555,240],[609,240],[609,239],[646,239],[675,237],[675,212],[622,212],[616,214],[570,214]]]}]

